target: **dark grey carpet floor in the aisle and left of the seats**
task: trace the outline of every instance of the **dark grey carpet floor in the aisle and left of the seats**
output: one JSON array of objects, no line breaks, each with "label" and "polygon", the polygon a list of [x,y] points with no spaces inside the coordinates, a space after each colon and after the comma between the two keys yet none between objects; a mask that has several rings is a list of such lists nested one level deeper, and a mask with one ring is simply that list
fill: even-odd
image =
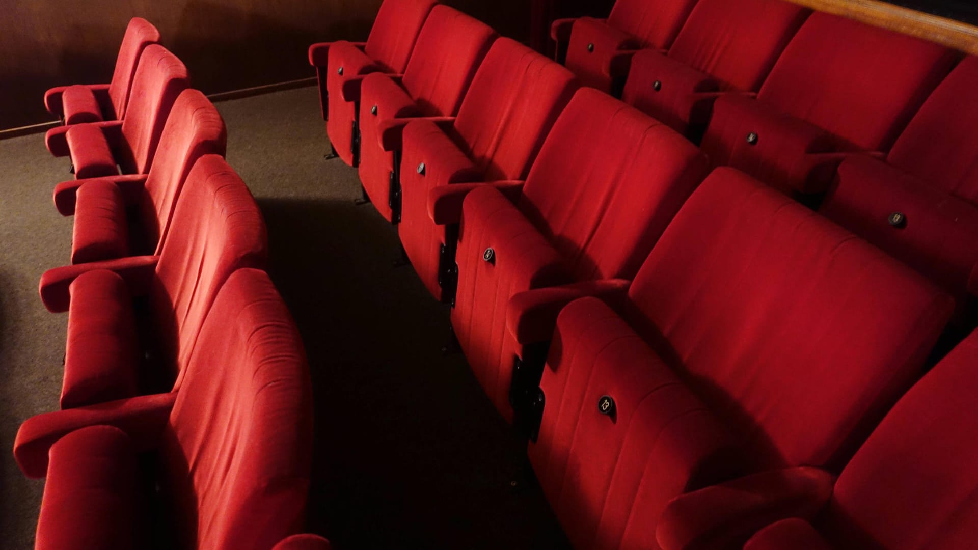
[{"label": "dark grey carpet floor in the aisle and left of the seats", "polygon": [[[564,548],[523,448],[461,355],[444,356],[448,310],[410,267],[396,230],[329,148],[315,88],[218,104],[228,160],[261,206],[269,273],[309,356],[316,406],[308,528],[340,549]],[[0,540],[33,545],[43,481],[10,449],[20,423],[58,406],[67,315],[37,281],[67,262],[71,220],[51,204],[67,160],[43,135],[0,141]]]}]

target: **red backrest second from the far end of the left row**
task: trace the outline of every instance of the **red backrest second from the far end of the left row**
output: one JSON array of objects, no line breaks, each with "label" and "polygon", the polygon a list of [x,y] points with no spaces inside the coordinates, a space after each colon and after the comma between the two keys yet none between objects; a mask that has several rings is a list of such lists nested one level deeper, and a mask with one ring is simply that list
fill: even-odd
[{"label": "red backrest second from the far end of the left row", "polygon": [[183,62],[166,48],[151,44],[139,58],[116,160],[123,173],[145,174],[153,163],[166,116],[180,92],[190,87]]}]

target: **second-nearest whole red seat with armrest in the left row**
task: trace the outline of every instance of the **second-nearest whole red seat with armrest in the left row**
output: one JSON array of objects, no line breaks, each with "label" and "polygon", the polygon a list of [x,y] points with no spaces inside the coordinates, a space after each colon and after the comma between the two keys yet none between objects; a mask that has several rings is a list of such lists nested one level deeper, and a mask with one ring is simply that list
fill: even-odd
[{"label": "second-nearest whole red seat with armrest in the left row", "polygon": [[[41,277],[45,306],[68,311],[63,408],[179,387],[221,285],[236,269],[265,265],[258,206],[217,155],[201,157],[187,176],[172,228],[159,255],[58,267]],[[133,321],[128,297],[145,297],[142,322]],[[134,349],[137,335],[143,349]],[[92,353],[95,345],[103,351]]]}]

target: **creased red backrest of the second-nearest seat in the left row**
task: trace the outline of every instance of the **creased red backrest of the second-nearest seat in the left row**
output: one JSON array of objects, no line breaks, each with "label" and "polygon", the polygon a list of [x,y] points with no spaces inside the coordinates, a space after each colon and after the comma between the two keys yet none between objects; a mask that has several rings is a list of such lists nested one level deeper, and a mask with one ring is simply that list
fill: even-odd
[{"label": "creased red backrest of the second-nearest seat in the left row", "polygon": [[[236,269],[264,268],[268,236],[242,179],[217,155],[194,164],[173,212],[150,288],[156,341],[182,375],[218,289]],[[179,388],[177,377],[175,387]]]}]

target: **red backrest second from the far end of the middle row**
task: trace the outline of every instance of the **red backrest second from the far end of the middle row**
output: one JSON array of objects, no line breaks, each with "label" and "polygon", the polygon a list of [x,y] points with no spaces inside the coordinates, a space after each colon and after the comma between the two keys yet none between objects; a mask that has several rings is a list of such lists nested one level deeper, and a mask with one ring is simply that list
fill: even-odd
[{"label": "red backrest second from the far end of the middle row", "polygon": [[431,9],[403,80],[424,115],[459,112],[468,84],[495,38],[495,30],[458,10],[442,5]]}]

